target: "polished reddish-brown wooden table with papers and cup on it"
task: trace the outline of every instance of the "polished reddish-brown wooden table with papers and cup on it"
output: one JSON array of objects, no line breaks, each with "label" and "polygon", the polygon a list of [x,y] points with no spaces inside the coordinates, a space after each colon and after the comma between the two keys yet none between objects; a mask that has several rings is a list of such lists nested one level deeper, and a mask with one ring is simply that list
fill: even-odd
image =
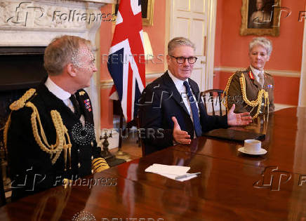
[{"label": "polished reddish-brown wooden table with papers and cup on it", "polygon": [[[238,142],[197,138],[8,203],[0,220],[305,220],[305,125],[305,108],[282,109],[267,124],[237,128],[267,133],[263,156],[241,154]],[[201,175],[179,182],[145,173],[152,163]]]}]

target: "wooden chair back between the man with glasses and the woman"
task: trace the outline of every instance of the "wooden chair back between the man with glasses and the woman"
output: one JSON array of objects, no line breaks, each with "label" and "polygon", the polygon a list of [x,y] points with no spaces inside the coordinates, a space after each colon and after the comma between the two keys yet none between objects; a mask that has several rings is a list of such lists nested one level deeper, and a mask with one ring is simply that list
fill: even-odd
[{"label": "wooden chair back between the man with glasses and the woman", "polygon": [[[201,92],[201,98],[203,98],[204,107],[208,115],[215,116],[215,112],[217,111],[219,111],[220,116],[227,114],[227,109],[222,104],[223,92],[224,91],[220,89],[211,89]],[[208,109],[209,107],[211,107],[211,109]]]}]

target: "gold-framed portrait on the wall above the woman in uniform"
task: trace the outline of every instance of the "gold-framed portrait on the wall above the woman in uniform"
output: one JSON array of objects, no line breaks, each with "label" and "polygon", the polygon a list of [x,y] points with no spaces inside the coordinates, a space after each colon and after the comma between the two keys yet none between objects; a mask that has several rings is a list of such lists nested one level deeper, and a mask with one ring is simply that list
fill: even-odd
[{"label": "gold-framed portrait on the wall above the woman in uniform", "polygon": [[279,36],[281,0],[242,0],[241,35]]}]

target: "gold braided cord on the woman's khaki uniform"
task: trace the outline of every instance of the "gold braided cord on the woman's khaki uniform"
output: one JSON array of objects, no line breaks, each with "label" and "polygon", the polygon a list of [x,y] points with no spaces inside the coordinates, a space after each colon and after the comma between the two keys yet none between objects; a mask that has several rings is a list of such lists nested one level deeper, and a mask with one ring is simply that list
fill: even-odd
[{"label": "gold braided cord on the woman's khaki uniform", "polygon": [[[227,112],[229,111],[229,108],[227,106],[227,95],[228,95],[228,90],[230,88],[230,84],[232,83],[232,78],[234,77],[234,74],[232,74],[232,76],[230,76],[230,79],[227,81],[227,85],[225,87],[225,91],[223,93],[223,97],[225,98],[225,102],[223,102],[223,104],[225,105]],[[267,108],[267,114],[269,114],[269,94],[267,93],[267,91],[265,91],[264,89],[261,89],[258,92],[258,96],[256,100],[248,100],[248,98],[246,97],[246,79],[244,77],[244,74],[241,73],[241,76],[239,77],[239,82],[240,82],[240,86],[241,86],[241,93],[242,93],[242,98],[244,99],[244,102],[246,102],[246,105],[251,106],[251,107],[257,107],[257,112],[256,114],[253,116],[253,119],[256,119],[258,117],[258,114],[260,112],[260,107],[261,107],[261,103],[262,103],[262,97],[265,98],[265,108]]]}]

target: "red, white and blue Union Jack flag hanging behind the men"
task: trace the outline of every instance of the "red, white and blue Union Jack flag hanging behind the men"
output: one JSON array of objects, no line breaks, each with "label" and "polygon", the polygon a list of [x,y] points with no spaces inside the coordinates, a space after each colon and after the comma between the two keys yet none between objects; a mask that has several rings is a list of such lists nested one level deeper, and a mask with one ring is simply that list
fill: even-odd
[{"label": "red, white and blue Union Jack flag hanging behind the men", "polygon": [[126,122],[133,120],[145,88],[145,55],[140,0],[121,0],[107,67],[114,80]]}]

